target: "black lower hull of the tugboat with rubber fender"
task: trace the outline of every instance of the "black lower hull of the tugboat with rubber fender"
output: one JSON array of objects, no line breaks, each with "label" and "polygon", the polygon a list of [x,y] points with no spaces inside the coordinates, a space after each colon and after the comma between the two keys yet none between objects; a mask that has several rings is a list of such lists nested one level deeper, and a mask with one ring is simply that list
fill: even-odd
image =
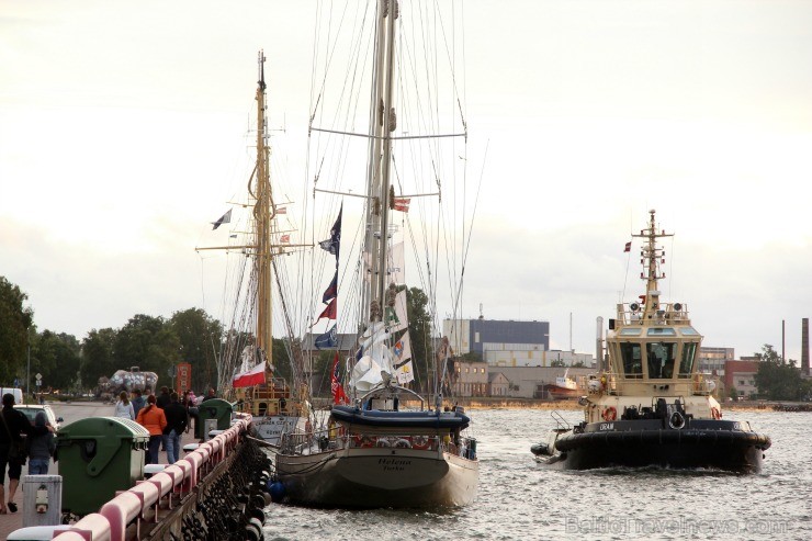
[{"label": "black lower hull of the tugboat with rubber fender", "polygon": [[755,473],[769,446],[767,436],[753,431],[606,430],[561,435],[553,454],[545,454],[544,446],[533,446],[532,451],[565,470],[662,466]]}]

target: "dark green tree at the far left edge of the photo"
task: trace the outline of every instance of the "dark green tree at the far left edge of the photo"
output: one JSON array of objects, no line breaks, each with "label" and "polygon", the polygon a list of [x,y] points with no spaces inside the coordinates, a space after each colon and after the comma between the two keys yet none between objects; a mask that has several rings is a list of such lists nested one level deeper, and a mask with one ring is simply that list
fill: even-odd
[{"label": "dark green tree at the far left edge of the photo", "polygon": [[0,277],[0,384],[11,386],[24,377],[27,362],[29,330],[34,312],[23,303],[29,296]]}]

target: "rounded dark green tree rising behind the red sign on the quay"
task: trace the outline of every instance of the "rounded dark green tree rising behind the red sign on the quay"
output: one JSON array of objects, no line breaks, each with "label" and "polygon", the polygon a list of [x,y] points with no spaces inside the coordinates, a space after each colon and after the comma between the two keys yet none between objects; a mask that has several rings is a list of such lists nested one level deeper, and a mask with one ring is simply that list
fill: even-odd
[{"label": "rounded dark green tree rising behind the red sign on the quay", "polygon": [[169,325],[180,343],[178,361],[192,365],[192,388],[203,390],[214,385],[217,381],[217,352],[223,341],[223,325],[201,308],[176,312]]}]

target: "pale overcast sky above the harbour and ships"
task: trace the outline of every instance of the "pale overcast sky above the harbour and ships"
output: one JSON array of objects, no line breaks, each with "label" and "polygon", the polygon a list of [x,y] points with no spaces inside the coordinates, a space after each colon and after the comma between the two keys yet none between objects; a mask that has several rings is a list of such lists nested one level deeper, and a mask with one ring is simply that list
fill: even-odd
[{"label": "pale overcast sky above the harbour and ships", "polygon": [[[211,311],[194,247],[245,180],[259,49],[274,179],[306,182],[315,1],[1,5],[0,275],[40,330],[79,339]],[[661,290],[704,346],[800,360],[812,3],[461,8],[482,179],[462,315],[548,320],[553,349],[594,353],[596,318],[643,292],[623,246],[655,208],[675,234]]]}]

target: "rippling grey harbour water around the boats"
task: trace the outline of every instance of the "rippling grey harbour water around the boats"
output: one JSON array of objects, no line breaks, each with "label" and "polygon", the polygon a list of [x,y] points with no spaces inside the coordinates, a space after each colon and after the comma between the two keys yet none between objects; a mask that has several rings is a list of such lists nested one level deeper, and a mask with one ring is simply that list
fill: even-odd
[{"label": "rippling grey harbour water around the boats", "polygon": [[549,412],[474,410],[481,464],[473,505],[441,512],[272,505],[266,540],[812,539],[812,413],[724,416],[772,438],[762,473],[556,471],[530,453],[554,426]]}]

